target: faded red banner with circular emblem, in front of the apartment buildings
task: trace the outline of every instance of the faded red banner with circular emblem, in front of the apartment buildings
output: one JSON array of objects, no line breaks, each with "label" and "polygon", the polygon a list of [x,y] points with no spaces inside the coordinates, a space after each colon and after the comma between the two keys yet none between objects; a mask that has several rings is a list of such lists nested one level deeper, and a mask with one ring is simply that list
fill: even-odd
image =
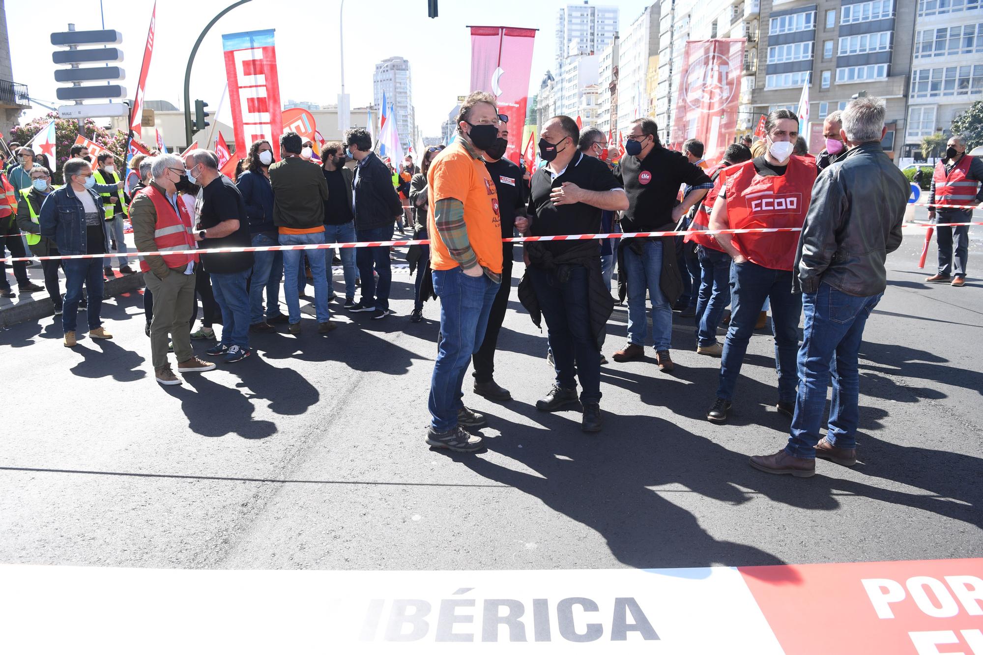
[{"label": "faded red banner with circular emblem, in front of the apartment buildings", "polygon": [[744,39],[686,41],[671,147],[699,139],[704,158],[714,161],[733,141],[740,102]]}]

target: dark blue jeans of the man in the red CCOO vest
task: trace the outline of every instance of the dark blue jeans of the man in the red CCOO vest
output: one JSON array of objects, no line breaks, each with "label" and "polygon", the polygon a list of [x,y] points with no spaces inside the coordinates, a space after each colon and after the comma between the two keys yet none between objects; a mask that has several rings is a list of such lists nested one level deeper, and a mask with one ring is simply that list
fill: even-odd
[{"label": "dark blue jeans of the man in the red CCOO vest", "polygon": [[747,342],[766,299],[772,301],[772,332],[775,334],[775,368],[779,373],[779,400],[795,402],[798,373],[798,320],[802,295],[792,293],[792,271],[759,267],[752,262],[730,267],[730,328],[723,342],[721,382],[717,397],[733,398],[737,376],[747,352]]}]

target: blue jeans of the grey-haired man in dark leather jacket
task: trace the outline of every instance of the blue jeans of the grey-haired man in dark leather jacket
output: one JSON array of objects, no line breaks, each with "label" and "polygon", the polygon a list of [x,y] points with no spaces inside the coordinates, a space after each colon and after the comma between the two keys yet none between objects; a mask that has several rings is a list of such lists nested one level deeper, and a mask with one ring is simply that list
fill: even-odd
[{"label": "blue jeans of the grey-haired man in dark leather jacket", "polygon": [[805,330],[798,352],[799,386],[785,447],[788,454],[816,456],[831,373],[833,404],[826,439],[835,447],[856,447],[860,421],[857,351],[867,318],[883,295],[851,296],[829,284],[820,284],[816,293],[803,294]]}]

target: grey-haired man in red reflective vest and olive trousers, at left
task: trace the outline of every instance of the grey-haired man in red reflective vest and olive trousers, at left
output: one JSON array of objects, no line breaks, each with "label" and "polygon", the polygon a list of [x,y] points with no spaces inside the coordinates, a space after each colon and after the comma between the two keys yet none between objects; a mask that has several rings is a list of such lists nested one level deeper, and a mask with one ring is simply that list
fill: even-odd
[{"label": "grey-haired man in red reflective vest and olive trousers, at left", "polygon": [[[198,262],[193,217],[178,198],[175,185],[184,174],[184,162],[176,154],[161,154],[141,162],[153,179],[130,205],[133,238],[147,255],[140,261],[146,288],[152,295],[150,359],[153,375],[161,385],[180,385],[167,361],[168,334],[174,343],[178,371],[192,373],[215,368],[195,356],[191,347],[191,312],[195,302],[195,263]],[[141,179],[145,179],[142,177]]]}]

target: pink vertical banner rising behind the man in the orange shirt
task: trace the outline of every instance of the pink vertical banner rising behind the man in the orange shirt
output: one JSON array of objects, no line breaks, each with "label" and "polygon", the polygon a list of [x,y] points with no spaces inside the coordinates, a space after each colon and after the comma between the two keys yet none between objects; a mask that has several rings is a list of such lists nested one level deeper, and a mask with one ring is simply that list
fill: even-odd
[{"label": "pink vertical banner rising behind the man in the orange shirt", "polygon": [[535,38],[536,30],[471,28],[471,90],[498,98],[498,113],[508,116],[505,156],[515,163],[522,155]]}]

